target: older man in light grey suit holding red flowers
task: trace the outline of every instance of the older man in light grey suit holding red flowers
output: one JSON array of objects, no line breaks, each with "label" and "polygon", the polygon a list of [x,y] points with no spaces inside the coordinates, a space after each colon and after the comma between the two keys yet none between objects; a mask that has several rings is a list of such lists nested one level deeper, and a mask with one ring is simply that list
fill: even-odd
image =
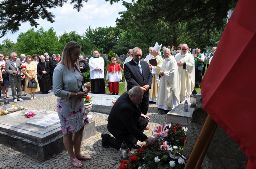
[{"label": "older man in light grey suit holding red flowers", "polygon": [[21,88],[21,76],[19,75],[19,63],[22,63],[20,60],[17,60],[17,54],[13,52],[11,54],[11,60],[7,60],[5,63],[5,72],[9,73],[11,88],[12,88],[12,97],[13,102],[23,101],[22,97],[22,88]]}]

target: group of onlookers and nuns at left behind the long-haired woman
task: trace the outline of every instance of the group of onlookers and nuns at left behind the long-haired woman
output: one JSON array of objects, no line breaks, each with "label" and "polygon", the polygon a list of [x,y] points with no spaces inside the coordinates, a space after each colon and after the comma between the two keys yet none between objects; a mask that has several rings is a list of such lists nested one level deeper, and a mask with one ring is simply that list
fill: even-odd
[{"label": "group of onlookers and nuns at left behind the long-haired woman", "polygon": [[[37,99],[35,92],[41,91],[42,94],[45,94],[51,91],[53,72],[59,63],[56,54],[53,54],[51,58],[48,53],[44,53],[44,55],[33,54],[32,56],[21,54],[18,58],[17,53],[13,52],[10,57],[0,53],[0,74],[2,78],[0,97],[3,93],[4,99],[10,98],[9,88],[12,89],[14,102],[24,101],[22,96],[28,96],[27,93],[30,94],[30,99],[33,100]],[[28,88],[29,81],[33,79],[37,83],[37,87]]]}]

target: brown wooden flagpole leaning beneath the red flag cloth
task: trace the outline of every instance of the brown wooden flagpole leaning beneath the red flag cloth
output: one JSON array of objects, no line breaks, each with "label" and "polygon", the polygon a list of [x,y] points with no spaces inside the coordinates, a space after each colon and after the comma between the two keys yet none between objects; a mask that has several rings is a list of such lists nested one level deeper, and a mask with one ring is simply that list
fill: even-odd
[{"label": "brown wooden flagpole leaning beneath the red flag cloth", "polygon": [[199,169],[201,167],[217,126],[218,124],[208,114],[197,142],[188,158],[185,169]]}]

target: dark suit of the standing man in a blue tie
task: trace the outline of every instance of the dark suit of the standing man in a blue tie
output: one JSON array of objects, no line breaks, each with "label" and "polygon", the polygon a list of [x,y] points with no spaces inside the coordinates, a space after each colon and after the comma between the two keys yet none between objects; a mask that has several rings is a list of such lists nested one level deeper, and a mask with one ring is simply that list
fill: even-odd
[{"label": "dark suit of the standing man in a blue tie", "polygon": [[[152,73],[148,67],[147,62],[140,61],[142,73],[140,72],[140,69],[138,65],[134,62],[132,59],[131,61],[124,64],[124,76],[125,80],[127,81],[127,90],[130,90],[134,86],[145,86],[148,84],[150,86],[149,89],[151,89],[152,84]],[[147,114],[148,110],[148,97],[149,97],[149,90],[144,92],[141,107],[142,107],[142,113]]]}]

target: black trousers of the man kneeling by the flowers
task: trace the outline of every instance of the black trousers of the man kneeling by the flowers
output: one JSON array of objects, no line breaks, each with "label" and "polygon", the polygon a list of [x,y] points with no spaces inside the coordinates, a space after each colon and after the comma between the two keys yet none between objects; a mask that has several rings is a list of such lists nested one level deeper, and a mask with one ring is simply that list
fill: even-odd
[{"label": "black trousers of the man kneeling by the flowers", "polygon": [[[145,128],[147,127],[147,124],[148,124],[148,119],[146,118],[143,118],[143,117],[140,117],[138,119],[138,122],[137,122],[137,128],[143,133]],[[127,133],[127,135],[130,134],[130,133]],[[133,137],[133,136],[131,136]],[[110,146],[110,147],[113,147],[117,150],[120,149],[121,145],[123,142],[125,142],[127,144],[127,147],[131,150],[131,143],[134,143],[134,144],[137,144],[138,142],[138,139],[137,138],[133,138],[133,140],[131,142],[127,142],[126,140],[118,140],[117,138],[115,137],[112,137],[111,135],[109,134],[105,134],[105,136],[102,138],[104,139],[105,141],[105,144]]]}]

